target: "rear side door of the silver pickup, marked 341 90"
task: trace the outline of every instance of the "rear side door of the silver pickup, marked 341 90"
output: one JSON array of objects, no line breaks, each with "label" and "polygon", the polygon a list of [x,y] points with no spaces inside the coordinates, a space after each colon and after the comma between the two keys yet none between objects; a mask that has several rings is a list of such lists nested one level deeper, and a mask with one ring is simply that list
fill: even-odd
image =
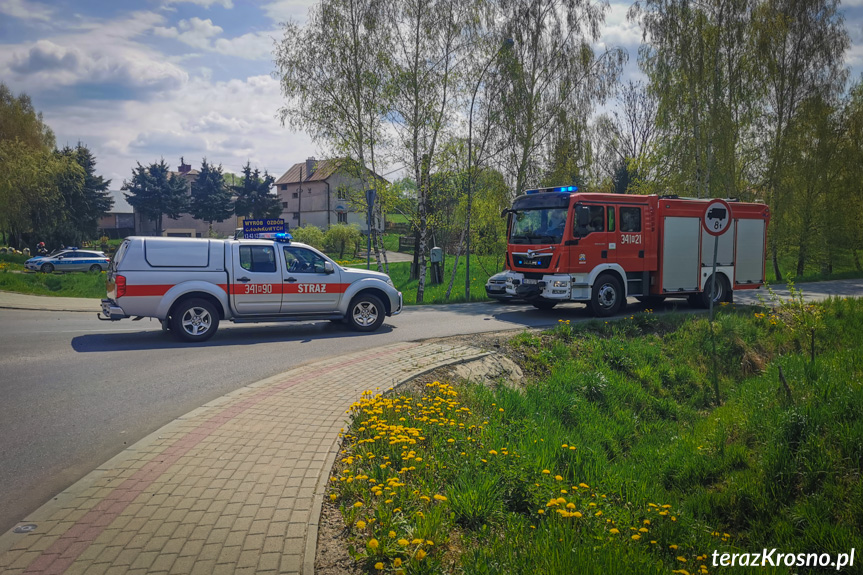
[{"label": "rear side door of the silver pickup, marked 341 90", "polygon": [[239,315],[276,315],[282,305],[282,274],[272,244],[234,244],[231,305]]}]

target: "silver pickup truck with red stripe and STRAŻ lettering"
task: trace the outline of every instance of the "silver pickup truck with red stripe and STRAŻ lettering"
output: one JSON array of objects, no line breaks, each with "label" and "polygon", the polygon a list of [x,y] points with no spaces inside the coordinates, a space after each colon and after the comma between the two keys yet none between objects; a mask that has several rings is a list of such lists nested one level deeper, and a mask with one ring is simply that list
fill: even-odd
[{"label": "silver pickup truck with red stripe and STRA\u017b lettering", "polygon": [[201,342],[220,320],[344,321],[374,331],[402,310],[383,273],[344,268],[287,234],[272,240],[130,237],[108,270],[99,319],[157,318]]}]

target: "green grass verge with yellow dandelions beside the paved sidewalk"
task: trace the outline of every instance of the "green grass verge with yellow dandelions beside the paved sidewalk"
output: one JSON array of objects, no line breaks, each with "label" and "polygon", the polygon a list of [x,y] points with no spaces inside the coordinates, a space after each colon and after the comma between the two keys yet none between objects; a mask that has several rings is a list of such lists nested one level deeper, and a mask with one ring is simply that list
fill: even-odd
[{"label": "green grass verge with yellow dandelions beside the paved sidewalk", "polygon": [[863,301],[797,296],[525,333],[523,390],[368,393],[329,489],[350,552],[369,573],[692,574],[859,551]]}]

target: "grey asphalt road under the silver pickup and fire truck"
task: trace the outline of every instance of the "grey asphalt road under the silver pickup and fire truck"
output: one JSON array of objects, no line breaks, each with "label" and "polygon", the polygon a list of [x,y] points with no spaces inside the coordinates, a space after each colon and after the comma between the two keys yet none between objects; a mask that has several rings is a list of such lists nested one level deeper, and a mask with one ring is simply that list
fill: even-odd
[{"label": "grey asphalt road under the silver pickup and fire truck", "polygon": [[[863,281],[807,284],[805,291],[814,298],[863,295]],[[210,341],[183,344],[156,321],[0,309],[0,531],[128,445],[244,385],[339,353],[560,319],[590,318],[578,304],[548,312],[454,304],[407,308],[372,334],[330,322],[223,323]]]}]

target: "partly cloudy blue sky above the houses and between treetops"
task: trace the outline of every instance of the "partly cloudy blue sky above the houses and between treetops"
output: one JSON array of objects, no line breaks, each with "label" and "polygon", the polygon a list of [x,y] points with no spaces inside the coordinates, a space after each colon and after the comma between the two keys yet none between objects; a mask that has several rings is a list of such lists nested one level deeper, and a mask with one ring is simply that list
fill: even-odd
[{"label": "partly cloudy blue sky above the houses and between treetops", "polygon": [[[136,162],[202,158],[239,172],[247,160],[280,176],[324,156],[281,126],[272,77],[279,23],[313,0],[0,0],[0,79],[26,92],[58,145],[83,142],[118,189]],[[612,2],[602,42],[630,54],[641,31]],[[843,3],[852,74],[863,71],[863,0]]]}]

